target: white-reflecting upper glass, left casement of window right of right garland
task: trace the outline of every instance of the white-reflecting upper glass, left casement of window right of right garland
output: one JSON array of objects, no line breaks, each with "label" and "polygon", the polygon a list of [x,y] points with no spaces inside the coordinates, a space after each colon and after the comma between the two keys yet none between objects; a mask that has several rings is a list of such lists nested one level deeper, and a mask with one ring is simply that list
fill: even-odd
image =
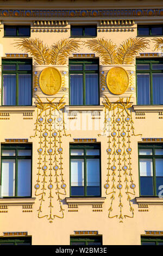
[{"label": "white-reflecting upper glass, left casement of window right of right garland", "polygon": [[140,159],[140,176],[153,176],[152,159]]}]

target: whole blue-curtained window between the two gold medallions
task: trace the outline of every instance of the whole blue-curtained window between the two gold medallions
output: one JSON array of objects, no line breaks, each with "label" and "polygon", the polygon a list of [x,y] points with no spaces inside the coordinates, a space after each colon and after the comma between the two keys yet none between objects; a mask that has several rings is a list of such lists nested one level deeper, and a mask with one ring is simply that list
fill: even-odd
[{"label": "whole blue-curtained window between the two gold medallions", "polygon": [[97,60],[70,60],[70,105],[99,105]]}]

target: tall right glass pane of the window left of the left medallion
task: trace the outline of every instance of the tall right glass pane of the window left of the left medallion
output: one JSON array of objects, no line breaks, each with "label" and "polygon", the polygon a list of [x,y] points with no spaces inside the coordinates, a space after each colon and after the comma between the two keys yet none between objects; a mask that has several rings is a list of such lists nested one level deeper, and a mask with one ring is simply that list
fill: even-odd
[{"label": "tall right glass pane of the window left of the left medallion", "polygon": [[21,74],[18,75],[18,105],[31,105],[31,75]]}]

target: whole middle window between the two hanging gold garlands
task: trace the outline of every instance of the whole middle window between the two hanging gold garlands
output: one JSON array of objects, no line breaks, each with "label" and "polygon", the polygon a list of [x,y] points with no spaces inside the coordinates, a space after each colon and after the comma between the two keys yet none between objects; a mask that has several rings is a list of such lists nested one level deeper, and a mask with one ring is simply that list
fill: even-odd
[{"label": "whole middle window between the two hanging gold garlands", "polygon": [[101,196],[101,164],[98,144],[70,145],[71,196]]}]

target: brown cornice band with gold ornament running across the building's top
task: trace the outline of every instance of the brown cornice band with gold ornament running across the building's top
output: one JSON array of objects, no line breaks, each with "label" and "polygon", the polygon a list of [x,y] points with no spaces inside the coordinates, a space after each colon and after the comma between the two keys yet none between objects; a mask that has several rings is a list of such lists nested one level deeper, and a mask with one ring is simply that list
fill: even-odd
[{"label": "brown cornice band with gold ornament running across the building's top", "polygon": [[1,9],[2,17],[104,17],[162,16],[163,9],[22,10]]}]

